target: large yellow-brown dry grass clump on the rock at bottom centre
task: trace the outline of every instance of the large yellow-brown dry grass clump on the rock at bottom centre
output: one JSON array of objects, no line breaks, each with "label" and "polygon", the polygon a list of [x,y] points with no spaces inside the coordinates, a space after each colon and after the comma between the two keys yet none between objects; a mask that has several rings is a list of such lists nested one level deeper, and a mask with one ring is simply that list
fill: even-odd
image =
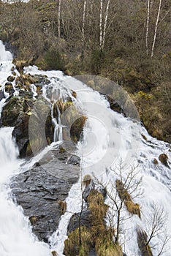
[{"label": "large yellow-brown dry grass clump on the rock at bottom centre", "polygon": [[[88,180],[90,178],[89,176]],[[65,241],[64,254],[66,256],[88,256],[91,248],[96,249],[98,256],[123,256],[121,246],[113,241],[115,230],[105,226],[104,217],[107,214],[107,209],[108,206],[104,204],[103,195],[96,190],[91,190],[88,195],[91,227],[88,229],[81,226],[80,233],[79,228],[70,233]]]}]

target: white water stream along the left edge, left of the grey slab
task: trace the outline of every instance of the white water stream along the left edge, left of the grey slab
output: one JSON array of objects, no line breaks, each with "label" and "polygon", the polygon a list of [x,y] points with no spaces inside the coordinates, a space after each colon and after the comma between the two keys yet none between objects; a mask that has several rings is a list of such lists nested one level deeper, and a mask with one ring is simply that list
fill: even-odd
[{"label": "white water stream along the left edge, left of the grey slab", "polygon": [[[4,50],[1,41],[0,60],[0,83],[3,86],[11,74],[12,54]],[[1,108],[3,105],[4,99],[0,102]],[[20,165],[23,163],[18,159],[18,148],[12,140],[12,129],[0,128],[0,255],[47,256],[50,255],[50,249],[33,236],[28,218],[24,217],[22,209],[12,200],[9,180],[15,173],[20,173]]]}]

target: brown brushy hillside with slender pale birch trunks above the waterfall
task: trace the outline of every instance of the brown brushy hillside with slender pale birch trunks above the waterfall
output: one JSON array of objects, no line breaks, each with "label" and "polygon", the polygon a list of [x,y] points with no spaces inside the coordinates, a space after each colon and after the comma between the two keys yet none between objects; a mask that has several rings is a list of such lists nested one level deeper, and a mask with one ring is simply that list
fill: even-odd
[{"label": "brown brushy hillside with slender pale birch trunks above the waterfall", "polygon": [[170,0],[0,1],[0,39],[39,68],[110,78],[171,141]]}]

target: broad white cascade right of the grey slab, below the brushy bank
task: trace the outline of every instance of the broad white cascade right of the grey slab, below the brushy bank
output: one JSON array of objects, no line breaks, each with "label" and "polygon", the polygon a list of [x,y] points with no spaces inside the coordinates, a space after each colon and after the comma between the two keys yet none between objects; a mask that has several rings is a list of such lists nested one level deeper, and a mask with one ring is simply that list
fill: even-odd
[{"label": "broad white cascade right of the grey slab, below the brushy bank", "polygon": [[[28,67],[26,72],[31,74],[37,73],[37,68]],[[50,79],[54,75],[53,72],[38,71],[40,74],[47,75]],[[153,205],[156,203],[159,207],[163,207],[168,215],[167,233],[171,228],[171,200],[170,200],[170,169],[159,162],[159,165],[153,164],[153,159],[158,159],[162,153],[167,154],[170,159],[170,148],[167,143],[156,140],[148,135],[148,132],[138,122],[129,118],[124,118],[121,114],[110,110],[109,103],[99,95],[96,91],[88,88],[74,78],[66,78],[60,75],[61,83],[66,89],[74,90],[77,93],[77,107],[81,108],[88,116],[86,127],[84,128],[84,140],[78,146],[78,154],[83,159],[82,175],[93,174],[99,178],[104,184],[107,181],[115,181],[115,174],[111,168],[122,160],[126,166],[126,170],[130,165],[137,166],[139,170],[139,178],[142,177],[143,197],[137,198],[142,210],[141,220],[135,216],[123,224],[126,230],[122,239],[125,240],[124,249],[126,255],[139,255],[137,247],[136,227],[142,229],[146,227],[148,230],[148,221],[152,216]],[[145,135],[147,140],[142,138]],[[67,150],[67,148],[66,148]],[[107,171],[106,171],[107,170]],[[81,190],[80,181],[75,184],[69,192],[66,199],[67,212],[61,217],[58,230],[50,238],[50,244],[59,255],[63,255],[64,240],[66,239],[66,229],[69,218],[72,213],[79,212],[81,206]],[[111,204],[107,198],[106,203]],[[156,237],[152,246],[158,244],[161,246],[161,239]],[[170,246],[170,244],[168,244]],[[153,255],[157,255],[157,249],[153,249]],[[170,256],[170,249],[164,252],[165,256]]]}]

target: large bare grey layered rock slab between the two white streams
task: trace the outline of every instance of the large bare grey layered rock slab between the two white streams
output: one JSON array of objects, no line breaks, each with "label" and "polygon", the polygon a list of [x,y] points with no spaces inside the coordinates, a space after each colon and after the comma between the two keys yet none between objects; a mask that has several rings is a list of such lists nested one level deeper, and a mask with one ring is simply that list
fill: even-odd
[{"label": "large bare grey layered rock slab between the two white streams", "polygon": [[[31,170],[12,178],[15,199],[41,241],[47,242],[56,231],[64,214],[60,201],[66,199],[72,184],[79,178],[80,159],[75,162],[75,158],[66,151],[60,153],[60,149],[50,151]],[[69,164],[66,164],[67,159]]]}]

